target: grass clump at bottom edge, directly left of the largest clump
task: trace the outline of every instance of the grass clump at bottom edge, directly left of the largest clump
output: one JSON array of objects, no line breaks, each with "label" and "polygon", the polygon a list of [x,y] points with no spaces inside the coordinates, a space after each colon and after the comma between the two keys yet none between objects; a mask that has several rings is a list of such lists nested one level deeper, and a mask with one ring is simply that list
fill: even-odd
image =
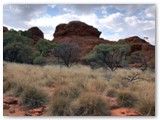
[{"label": "grass clump at bottom edge, directly left of the largest clump", "polygon": [[53,97],[49,105],[49,115],[51,116],[69,116],[72,115],[70,99],[62,96]]}]

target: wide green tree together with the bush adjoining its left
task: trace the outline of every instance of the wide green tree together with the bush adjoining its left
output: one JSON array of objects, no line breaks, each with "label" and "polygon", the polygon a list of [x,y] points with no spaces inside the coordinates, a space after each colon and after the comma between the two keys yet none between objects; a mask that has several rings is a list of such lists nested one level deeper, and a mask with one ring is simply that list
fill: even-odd
[{"label": "wide green tree together with the bush adjoining its left", "polygon": [[118,67],[127,66],[125,54],[130,50],[128,44],[100,44],[94,50],[95,52],[84,57],[91,68],[104,67],[115,71]]}]

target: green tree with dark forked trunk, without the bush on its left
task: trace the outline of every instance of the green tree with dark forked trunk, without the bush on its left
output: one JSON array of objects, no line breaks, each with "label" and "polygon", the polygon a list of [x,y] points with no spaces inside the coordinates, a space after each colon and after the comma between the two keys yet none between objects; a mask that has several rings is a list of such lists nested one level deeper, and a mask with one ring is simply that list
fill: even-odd
[{"label": "green tree with dark forked trunk, without the bush on its left", "polygon": [[101,60],[103,67],[115,71],[122,67],[126,60],[125,54],[129,51],[129,45],[105,45],[96,46],[96,57]]}]

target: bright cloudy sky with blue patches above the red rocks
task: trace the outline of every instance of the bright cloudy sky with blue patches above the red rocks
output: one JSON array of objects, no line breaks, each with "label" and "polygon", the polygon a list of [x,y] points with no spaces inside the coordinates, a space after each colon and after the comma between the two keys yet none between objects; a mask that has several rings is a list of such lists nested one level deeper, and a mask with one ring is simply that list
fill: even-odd
[{"label": "bright cloudy sky with blue patches above the red rocks", "polygon": [[58,24],[82,21],[101,31],[100,38],[148,37],[155,45],[155,13],[154,4],[5,4],[3,25],[15,30],[37,26],[52,40]]}]

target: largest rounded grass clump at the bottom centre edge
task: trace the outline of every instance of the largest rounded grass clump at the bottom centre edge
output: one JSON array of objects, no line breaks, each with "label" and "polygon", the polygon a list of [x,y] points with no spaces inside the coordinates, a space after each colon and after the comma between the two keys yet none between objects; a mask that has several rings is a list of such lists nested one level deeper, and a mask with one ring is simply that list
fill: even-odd
[{"label": "largest rounded grass clump at the bottom centre edge", "polygon": [[84,93],[74,106],[74,114],[78,116],[102,116],[109,115],[109,105],[103,99],[93,93]]}]

